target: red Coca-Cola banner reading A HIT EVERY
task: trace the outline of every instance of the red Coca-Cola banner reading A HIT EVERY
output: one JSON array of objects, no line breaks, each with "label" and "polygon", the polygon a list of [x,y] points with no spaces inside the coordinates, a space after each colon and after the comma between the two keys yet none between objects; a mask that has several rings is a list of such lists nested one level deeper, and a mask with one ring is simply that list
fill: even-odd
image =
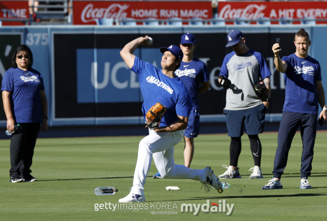
[{"label": "red Coca-Cola banner reading A HIT EVERY", "polygon": [[[327,2],[219,2],[218,13],[219,17],[224,19],[235,19],[238,17],[247,19],[258,19],[261,17],[268,17],[270,19],[281,17],[293,19],[312,17],[321,19],[327,18]],[[322,23],[327,23],[327,21]]]}]

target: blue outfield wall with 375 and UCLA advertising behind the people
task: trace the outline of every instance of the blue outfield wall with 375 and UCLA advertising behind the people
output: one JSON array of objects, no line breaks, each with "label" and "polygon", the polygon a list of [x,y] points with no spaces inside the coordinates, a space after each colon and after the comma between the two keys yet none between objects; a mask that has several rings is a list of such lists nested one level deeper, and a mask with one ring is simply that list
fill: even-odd
[{"label": "blue outfield wall with 375 and UCLA advertising behind the people", "polygon": [[[281,56],[295,52],[293,37],[300,26],[239,26],[246,44],[260,52],[272,72],[271,104],[266,120],[281,120],[285,99],[284,75],[273,64],[271,46],[281,38]],[[323,85],[327,88],[322,48],[327,26],[304,27],[311,37],[309,55],[321,64]],[[195,57],[205,62],[211,77],[211,89],[199,96],[201,122],[224,122],[226,90],[218,86],[223,59],[231,52],[225,48],[226,34],[236,29],[226,27],[98,27],[37,26],[0,28],[0,75],[11,67],[14,49],[21,43],[31,47],[33,68],[41,72],[49,103],[50,126],[137,125],[143,124],[143,97],[137,76],[120,57],[129,41],[146,34],[154,39],[151,47],[140,46],[135,55],[160,68],[159,47],[178,45],[183,33],[193,33],[197,48]],[[130,115],[130,110],[135,114]],[[0,108],[0,127],[6,116]]]}]

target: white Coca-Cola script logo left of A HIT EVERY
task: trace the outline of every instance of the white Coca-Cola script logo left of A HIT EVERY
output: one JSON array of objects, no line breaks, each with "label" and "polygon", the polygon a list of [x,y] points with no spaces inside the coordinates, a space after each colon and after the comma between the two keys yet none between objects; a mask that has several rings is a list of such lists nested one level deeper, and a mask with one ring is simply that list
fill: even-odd
[{"label": "white Coca-Cola script logo left of A HIT EVERY", "polygon": [[261,17],[265,17],[265,13],[263,10],[267,8],[266,5],[248,5],[246,8],[236,9],[231,8],[231,5],[225,5],[219,12],[219,17],[224,19],[235,19],[239,17],[243,17],[246,19],[258,19]]}]

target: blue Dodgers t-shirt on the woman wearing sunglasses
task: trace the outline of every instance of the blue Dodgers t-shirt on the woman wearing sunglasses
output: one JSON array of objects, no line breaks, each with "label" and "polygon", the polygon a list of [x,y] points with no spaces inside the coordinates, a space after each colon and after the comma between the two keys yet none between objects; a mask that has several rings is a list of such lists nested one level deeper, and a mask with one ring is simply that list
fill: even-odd
[{"label": "blue Dodgers t-shirt on the woman wearing sunglasses", "polygon": [[[25,73],[29,73],[25,75]],[[40,90],[44,90],[41,74],[31,68],[24,71],[10,68],[2,80],[2,91],[12,93],[11,111],[15,122],[32,123],[42,121]]]}]

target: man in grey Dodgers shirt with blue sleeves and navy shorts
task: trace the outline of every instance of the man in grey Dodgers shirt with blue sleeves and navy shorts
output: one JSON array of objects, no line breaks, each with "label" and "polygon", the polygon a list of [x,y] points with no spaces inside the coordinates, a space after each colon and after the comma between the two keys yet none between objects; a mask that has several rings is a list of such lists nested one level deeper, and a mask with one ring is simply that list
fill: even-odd
[{"label": "man in grey Dodgers shirt with blue sleeves and navy shorts", "polygon": [[[250,148],[254,160],[254,167],[250,179],[263,178],[261,164],[261,142],[258,134],[264,130],[265,114],[270,102],[271,75],[265,59],[259,52],[254,52],[245,44],[245,38],[239,30],[232,30],[227,35],[226,47],[233,52],[225,56],[220,75],[231,81],[226,93],[226,125],[228,136],[231,138],[229,146],[229,166],[224,174],[218,178],[241,178],[238,159],[241,153],[241,136],[243,130],[250,139]],[[261,101],[254,91],[253,84],[263,79],[267,87],[267,101]],[[221,80],[219,80],[220,82]]]}]

